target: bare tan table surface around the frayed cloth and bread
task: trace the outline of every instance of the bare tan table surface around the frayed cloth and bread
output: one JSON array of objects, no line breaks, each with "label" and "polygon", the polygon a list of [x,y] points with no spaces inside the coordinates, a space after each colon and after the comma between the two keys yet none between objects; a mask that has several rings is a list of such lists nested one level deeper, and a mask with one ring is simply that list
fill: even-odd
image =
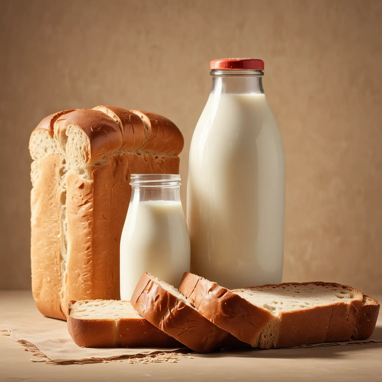
[{"label": "bare tan table surface around the frayed cloth and bread", "polygon": [[[3,309],[16,318],[36,308],[30,291],[0,291],[0,316]],[[382,317],[373,337],[382,340]],[[31,358],[21,344],[0,335],[0,381],[382,381],[382,343],[213,353],[178,363],[49,365]]]}]

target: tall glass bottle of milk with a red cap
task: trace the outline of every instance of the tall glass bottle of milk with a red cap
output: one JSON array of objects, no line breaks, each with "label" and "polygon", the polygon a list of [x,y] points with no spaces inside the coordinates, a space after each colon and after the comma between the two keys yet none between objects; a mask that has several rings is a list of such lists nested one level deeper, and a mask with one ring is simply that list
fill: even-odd
[{"label": "tall glass bottle of milk with a red cap", "polygon": [[262,87],[264,62],[211,62],[189,155],[191,272],[227,288],[280,283],[285,155]]}]

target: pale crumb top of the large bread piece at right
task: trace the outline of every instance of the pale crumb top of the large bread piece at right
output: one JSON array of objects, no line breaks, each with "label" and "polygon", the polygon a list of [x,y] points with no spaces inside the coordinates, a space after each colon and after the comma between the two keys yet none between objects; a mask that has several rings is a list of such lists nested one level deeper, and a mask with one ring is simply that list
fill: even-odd
[{"label": "pale crumb top of the large bread piece at right", "polygon": [[361,293],[346,286],[316,284],[271,285],[234,289],[233,292],[251,304],[269,310],[275,316],[280,312],[300,311],[336,303],[350,304],[354,299],[362,299]]}]

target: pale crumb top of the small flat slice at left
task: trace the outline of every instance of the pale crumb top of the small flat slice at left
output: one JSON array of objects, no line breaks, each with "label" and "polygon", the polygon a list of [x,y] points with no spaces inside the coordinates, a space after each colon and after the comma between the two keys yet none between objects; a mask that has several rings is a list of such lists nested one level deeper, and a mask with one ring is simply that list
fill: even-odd
[{"label": "pale crumb top of the small flat slice at left", "polygon": [[73,304],[70,316],[86,320],[143,319],[131,306],[130,301],[84,300]]}]

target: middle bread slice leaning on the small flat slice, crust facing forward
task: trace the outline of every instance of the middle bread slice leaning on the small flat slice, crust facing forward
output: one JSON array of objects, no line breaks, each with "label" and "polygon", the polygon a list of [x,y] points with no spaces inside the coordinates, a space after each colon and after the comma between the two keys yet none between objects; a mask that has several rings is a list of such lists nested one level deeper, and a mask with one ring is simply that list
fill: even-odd
[{"label": "middle bread slice leaning on the small flat slice, crust facing forward", "polygon": [[151,324],[199,353],[219,348],[228,337],[176,288],[146,272],[131,296],[131,304]]}]

